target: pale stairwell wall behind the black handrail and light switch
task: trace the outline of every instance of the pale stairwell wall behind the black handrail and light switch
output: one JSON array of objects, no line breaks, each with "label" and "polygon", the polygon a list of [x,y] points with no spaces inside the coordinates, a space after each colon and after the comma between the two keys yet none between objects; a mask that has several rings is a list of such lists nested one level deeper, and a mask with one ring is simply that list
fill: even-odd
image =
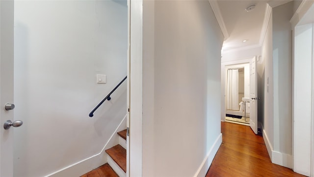
[{"label": "pale stairwell wall behind the black handrail and light switch", "polygon": [[127,74],[126,1],[15,1],[14,47],[15,119],[24,121],[14,176],[49,175],[100,153],[126,115],[124,83],[88,117]]}]

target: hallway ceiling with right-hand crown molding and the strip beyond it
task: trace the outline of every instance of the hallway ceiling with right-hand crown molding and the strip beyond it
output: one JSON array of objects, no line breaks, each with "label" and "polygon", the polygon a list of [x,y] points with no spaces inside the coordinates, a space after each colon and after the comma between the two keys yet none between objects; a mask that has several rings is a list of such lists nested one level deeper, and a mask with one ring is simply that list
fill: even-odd
[{"label": "hallway ceiling with right-hand crown molding and the strip beyond it", "polygon": [[[269,17],[270,6],[275,7],[289,1],[291,0],[209,0],[225,36],[223,52],[260,47],[268,22],[264,18]],[[246,11],[250,5],[255,5],[255,8]]]}]

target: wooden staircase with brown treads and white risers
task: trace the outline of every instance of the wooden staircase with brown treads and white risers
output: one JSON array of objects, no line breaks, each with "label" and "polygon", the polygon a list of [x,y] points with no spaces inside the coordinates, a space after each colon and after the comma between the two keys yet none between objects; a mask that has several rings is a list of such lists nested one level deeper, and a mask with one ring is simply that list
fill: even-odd
[{"label": "wooden staircase with brown treads and white risers", "polygon": [[118,132],[119,144],[108,148],[107,163],[81,177],[126,177],[127,172],[127,130]]}]

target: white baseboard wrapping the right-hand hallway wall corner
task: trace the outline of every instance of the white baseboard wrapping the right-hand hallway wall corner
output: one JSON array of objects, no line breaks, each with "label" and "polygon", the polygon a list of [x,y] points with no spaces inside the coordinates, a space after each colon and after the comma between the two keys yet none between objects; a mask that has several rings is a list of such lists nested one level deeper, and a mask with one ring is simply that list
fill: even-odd
[{"label": "white baseboard wrapping the right-hand hallway wall corner", "polygon": [[291,169],[292,168],[292,155],[274,151],[264,129],[263,129],[263,139],[264,139],[271,162]]}]

